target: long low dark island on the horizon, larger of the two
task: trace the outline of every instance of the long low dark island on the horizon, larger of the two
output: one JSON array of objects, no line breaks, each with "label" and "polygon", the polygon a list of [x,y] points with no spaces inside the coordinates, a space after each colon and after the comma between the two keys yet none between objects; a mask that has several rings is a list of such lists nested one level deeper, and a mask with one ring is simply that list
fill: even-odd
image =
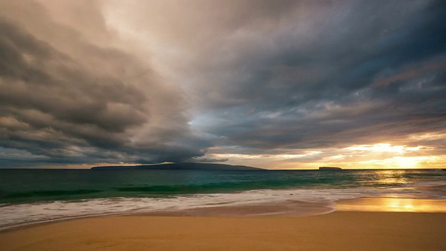
[{"label": "long low dark island on the horizon, larger of the two", "polygon": [[244,165],[225,165],[197,162],[178,162],[155,165],[134,165],[134,166],[102,166],[91,167],[91,169],[151,169],[151,170],[215,170],[215,171],[267,171],[257,167],[247,167]]}]

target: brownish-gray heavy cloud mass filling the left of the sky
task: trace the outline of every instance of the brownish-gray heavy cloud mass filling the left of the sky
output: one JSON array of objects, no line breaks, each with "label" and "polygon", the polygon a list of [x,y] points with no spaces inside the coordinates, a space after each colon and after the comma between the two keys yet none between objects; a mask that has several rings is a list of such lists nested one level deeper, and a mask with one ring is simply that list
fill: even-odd
[{"label": "brownish-gray heavy cloud mass filling the left of the sky", "polygon": [[[146,163],[203,155],[208,144],[190,130],[180,90],[162,83],[135,56],[89,43],[50,20],[43,6],[22,4],[24,11],[36,8],[34,15],[43,21],[0,15],[2,166]],[[71,33],[58,45],[45,33],[31,33],[31,22]]]}]

